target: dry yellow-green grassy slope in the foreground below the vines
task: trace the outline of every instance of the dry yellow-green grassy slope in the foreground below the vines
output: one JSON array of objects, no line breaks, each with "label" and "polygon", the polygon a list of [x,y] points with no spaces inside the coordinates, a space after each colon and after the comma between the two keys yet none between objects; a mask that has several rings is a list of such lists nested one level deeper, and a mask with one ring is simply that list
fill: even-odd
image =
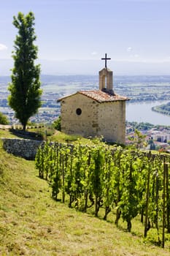
[{"label": "dry yellow-green grassy slope in the foreground below the vines", "polygon": [[[0,137],[9,137],[0,130]],[[169,255],[138,233],[82,214],[50,197],[34,161],[7,154],[0,142],[0,255]]]}]

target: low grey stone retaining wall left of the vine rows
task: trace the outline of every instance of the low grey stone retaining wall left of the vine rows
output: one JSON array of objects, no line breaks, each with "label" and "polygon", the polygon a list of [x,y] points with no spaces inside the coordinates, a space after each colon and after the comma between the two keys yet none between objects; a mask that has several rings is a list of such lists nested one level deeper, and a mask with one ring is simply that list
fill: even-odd
[{"label": "low grey stone retaining wall left of the vine rows", "polygon": [[35,159],[36,151],[45,141],[2,138],[3,147],[9,154],[25,159]]}]

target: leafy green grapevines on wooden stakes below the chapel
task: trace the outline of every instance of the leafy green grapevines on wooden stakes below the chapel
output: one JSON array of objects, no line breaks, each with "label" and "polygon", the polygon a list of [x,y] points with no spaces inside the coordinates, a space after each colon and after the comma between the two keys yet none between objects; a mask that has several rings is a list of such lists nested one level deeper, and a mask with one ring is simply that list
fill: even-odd
[{"label": "leafy green grapevines on wooden stakes below the chapel", "polygon": [[154,243],[170,241],[169,155],[151,154],[120,146],[71,146],[45,143],[36,154],[39,177],[52,188],[52,196],[69,207],[103,218],[115,213],[131,232],[132,220],[140,217],[144,238],[152,230]]}]

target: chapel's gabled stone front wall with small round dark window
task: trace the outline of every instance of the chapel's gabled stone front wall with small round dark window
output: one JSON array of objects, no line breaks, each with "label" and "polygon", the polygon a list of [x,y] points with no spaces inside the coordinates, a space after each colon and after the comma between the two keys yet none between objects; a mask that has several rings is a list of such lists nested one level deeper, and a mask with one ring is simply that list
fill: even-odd
[{"label": "chapel's gabled stone front wall with small round dark window", "polygon": [[98,132],[98,102],[74,94],[61,101],[61,131],[69,135],[94,137]]}]

